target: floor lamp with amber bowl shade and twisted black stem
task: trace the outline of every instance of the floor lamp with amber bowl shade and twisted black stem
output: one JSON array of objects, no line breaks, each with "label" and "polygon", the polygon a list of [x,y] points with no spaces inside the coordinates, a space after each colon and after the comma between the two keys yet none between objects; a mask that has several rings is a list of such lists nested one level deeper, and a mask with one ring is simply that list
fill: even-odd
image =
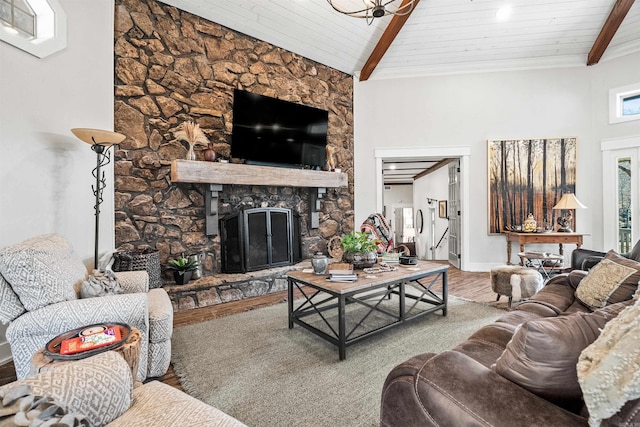
[{"label": "floor lamp with amber bowl shade and twisted black stem", "polygon": [[92,185],[93,195],[96,197],[96,204],[93,206],[96,217],[96,229],[95,229],[95,247],[93,252],[93,268],[98,269],[98,238],[100,234],[100,204],[102,203],[102,192],[107,186],[107,178],[104,175],[104,171],[101,170],[103,166],[106,166],[111,161],[111,154],[109,149],[120,144],[126,136],[121,133],[111,132],[108,130],[100,129],[86,129],[75,128],[71,129],[71,132],[78,137],[81,141],[91,145],[91,149],[96,153],[96,167],[93,169],[92,174],[96,179],[95,186]]}]

